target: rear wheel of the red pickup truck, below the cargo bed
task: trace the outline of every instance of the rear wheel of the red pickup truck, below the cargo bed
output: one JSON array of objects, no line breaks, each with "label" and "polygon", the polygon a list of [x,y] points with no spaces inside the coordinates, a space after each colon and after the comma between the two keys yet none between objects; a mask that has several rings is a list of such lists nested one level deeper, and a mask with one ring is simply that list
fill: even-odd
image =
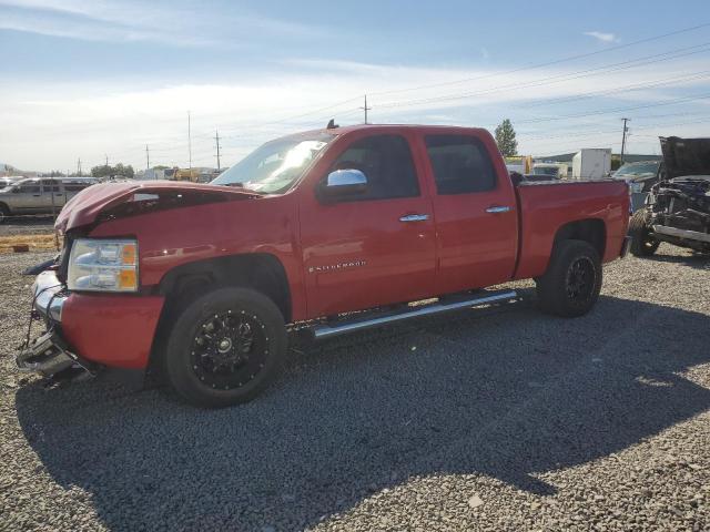
[{"label": "rear wheel of the red pickup truck, below the cargo bed", "polygon": [[552,249],[547,272],[535,279],[544,313],[575,318],[597,303],[602,273],[599,253],[584,241],[561,241]]}]

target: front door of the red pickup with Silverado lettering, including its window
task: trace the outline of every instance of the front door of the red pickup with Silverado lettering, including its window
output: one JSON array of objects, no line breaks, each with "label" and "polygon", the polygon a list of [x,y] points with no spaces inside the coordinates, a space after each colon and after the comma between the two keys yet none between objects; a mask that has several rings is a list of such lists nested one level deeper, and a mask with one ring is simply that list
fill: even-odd
[{"label": "front door of the red pickup with Silverado lettering, including its window", "polygon": [[[343,145],[344,144],[344,145]],[[406,134],[351,133],[301,187],[301,243],[308,315],[409,301],[434,291],[432,204]],[[358,170],[364,193],[318,194],[336,170]]]}]

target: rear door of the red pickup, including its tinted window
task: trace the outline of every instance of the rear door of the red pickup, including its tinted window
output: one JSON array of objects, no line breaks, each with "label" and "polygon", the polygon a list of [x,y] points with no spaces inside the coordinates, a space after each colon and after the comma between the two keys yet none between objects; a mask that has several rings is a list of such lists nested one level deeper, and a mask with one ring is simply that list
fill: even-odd
[{"label": "rear door of the red pickup, including its tinted window", "polygon": [[437,231],[439,294],[510,279],[517,253],[517,213],[510,180],[500,175],[493,141],[470,134],[426,134]]}]

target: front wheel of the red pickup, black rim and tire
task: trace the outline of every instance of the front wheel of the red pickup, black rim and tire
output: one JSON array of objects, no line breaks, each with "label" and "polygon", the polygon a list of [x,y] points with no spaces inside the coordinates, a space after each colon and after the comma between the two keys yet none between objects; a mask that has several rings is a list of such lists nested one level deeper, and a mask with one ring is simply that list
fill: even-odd
[{"label": "front wheel of the red pickup, black rim and tire", "polygon": [[187,402],[221,408],[263,391],[285,354],[286,328],[276,305],[255,290],[224,287],[182,310],[168,338],[164,368]]}]

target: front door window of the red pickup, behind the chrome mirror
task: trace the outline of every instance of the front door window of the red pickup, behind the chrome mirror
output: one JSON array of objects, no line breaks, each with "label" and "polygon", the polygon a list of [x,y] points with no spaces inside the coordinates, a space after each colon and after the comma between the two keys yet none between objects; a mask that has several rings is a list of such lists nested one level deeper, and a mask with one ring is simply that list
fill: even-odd
[{"label": "front door window of the red pickup, behind the chrome mirror", "polygon": [[335,170],[359,170],[367,177],[367,191],[354,201],[419,195],[409,143],[399,135],[373,135],[355,141],[328,172]]}]

